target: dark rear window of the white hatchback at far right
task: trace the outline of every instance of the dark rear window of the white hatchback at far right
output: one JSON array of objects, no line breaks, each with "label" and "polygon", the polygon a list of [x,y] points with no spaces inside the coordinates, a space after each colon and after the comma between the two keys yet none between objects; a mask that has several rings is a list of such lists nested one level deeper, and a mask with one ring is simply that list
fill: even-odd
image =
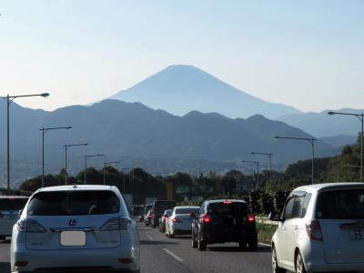
[{"label": "dark rear window of the white hatchback at far right", "polygon": [[322,219],[364,218],[364,188],[320,193],[316,217]]}]

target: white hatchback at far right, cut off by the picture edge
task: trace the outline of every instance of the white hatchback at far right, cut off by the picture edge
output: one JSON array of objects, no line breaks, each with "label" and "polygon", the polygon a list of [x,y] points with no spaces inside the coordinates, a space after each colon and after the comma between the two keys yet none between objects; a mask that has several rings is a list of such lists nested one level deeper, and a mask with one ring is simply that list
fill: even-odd
[{"label": "white hatchback at far right, cut off by the picture edge", "polygon": [[298,187],[272,238],[273,272],[364,270],[364,183]]}]

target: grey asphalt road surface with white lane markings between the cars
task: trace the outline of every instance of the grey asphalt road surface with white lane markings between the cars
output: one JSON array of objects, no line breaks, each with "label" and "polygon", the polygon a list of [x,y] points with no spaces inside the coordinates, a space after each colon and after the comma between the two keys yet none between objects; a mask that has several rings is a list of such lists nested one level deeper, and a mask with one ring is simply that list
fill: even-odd
[{"label": "grey asphalt road surface with white lane markings between the cars", "polygon": [[[143,273],[259,273],[271,272],[270,248],[240,250],[238,244],[211,245],[198,251],[190,238],[167,238],[151,227],[140,227]],[[0,241],[0,272],[9,273],[9,241]]]}]

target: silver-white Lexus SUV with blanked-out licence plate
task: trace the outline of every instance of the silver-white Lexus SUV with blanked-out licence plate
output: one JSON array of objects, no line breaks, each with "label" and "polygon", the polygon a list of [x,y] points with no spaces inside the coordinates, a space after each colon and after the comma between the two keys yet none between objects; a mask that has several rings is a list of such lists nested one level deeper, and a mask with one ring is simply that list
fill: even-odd
[{"label": "silver-white Lexus SUV with blanked-out licence plate", "polygon": [[140,272],[136,222],[116,187],[38,189],[13,227],[12,272]]}]

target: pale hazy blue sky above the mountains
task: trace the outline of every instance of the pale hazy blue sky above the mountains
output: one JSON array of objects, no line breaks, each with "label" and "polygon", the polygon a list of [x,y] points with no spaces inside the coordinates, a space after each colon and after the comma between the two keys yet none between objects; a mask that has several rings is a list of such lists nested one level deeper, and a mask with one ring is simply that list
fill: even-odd
[{"label": "pale hazy blue sky above the mountains", "polygon": [[364,108],[364,1],[0,0],[0,96],[87,104],[174,64],[304,111]]}]

